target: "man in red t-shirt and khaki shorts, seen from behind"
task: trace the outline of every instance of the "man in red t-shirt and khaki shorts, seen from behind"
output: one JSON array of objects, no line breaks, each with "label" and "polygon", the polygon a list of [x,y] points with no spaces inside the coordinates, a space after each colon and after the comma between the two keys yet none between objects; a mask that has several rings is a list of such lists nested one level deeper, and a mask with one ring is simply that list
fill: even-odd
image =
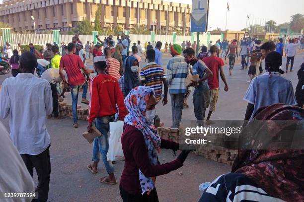
[{"label": "man in red t-shirt and khaki shorts, seen from behind", "polygon": [[203,62],[205,62],[205,64],[213,73],[213,76],[208,78],[208,85],[210,89],[210,106],[207,120],[210,119],[212,112],[216,110],[216,103],[219,99],[219,71],[220,76],[225,84],[224,90],[228,91],[228,85],[223,71],[224,62],[222,58],[216,56],[218,51],[219,48],[213,45],[210,48],[211,56],[203,58]]}]

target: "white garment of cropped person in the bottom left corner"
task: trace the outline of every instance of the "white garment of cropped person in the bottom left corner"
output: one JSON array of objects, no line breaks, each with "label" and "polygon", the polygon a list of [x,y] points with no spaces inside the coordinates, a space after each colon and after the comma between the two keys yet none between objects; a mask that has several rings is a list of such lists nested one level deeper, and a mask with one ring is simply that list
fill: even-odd
[{"label": "white garment of cropped person in the bottom left corner", "polygon": [[[35,185],[19,152],[0,122],[0,193],[34,193]],[[1,194],[1,195],[2,195]],[[6,198],[4,202],[30,202],[33,198]]]}]

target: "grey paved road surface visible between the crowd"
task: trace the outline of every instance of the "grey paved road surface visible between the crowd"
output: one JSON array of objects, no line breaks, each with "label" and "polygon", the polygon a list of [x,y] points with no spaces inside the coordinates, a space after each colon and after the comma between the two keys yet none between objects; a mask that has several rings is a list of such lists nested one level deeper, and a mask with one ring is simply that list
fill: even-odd
[{"label": "grey paved road surface visible between the crowd", "polygon": [[[295,59],[294,72],[284,75],[296,87],[297,71],[303,62],[304,54],[298,54]],[[170,58],[163,56],[163,62]],[[238,61],[239,63],[239,61]],[[228,80],[229,91],[223,91],[223,82],[220,81],[220,95],[217,111],[212,119],[243,119],[247,103],[242,101],[249,83],[247,70],[239,70],[236,64],[232,76],[228,76],[228,66],[225,73]],[[283,58],[285,66],[286,58]],[[144,65],[144,63],[142,64]],[[10,75],[0,75],[0,84]],[[69,94],[67,101],[71,100]],[[79,99],[81,96],[79,95]],[[195,119],[193,113],[192,94],[188,100],[189,108],[183,110],[182,119]],[[157,105],[157,114],[166,126],[171,124],[170,99],[166,106]],[[8,128],[8,120],[0,120]],[[51,136],[51,182],[49,201],[51,202],[120,202],[119,185],[104,185],[98,179],[106,175],[103,163],[99,165],[99,173],[91,174],[86,165],[91,160],[92,147],[81,136],[86,130],[86,122],[79,121],[79,128],[72,128],[71,119],[47,120],[47,129]],[[169,162],[175,157],[172,151],[161,150],[159,160],[161,163]],[[117,162],[115,174],[117,180],[123,170],[123,162]],[[218,175],[230,171],[230,166],[217,163],[201,156],[190,154],[182,168],[167,175],[157,177],[156,188],[160,202],[196,202],[199,199],[198,186],[203,182],[213,181]],[[183,172],[183,175],[178,175]],[[37,183],[37,177],[34,177]]]}]

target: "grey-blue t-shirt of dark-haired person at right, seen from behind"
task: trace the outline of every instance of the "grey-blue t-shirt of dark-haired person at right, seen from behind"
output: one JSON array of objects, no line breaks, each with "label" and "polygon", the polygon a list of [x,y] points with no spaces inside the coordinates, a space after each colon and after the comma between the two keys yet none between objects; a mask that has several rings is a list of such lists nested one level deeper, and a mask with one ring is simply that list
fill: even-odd
[{"label": "grey-blue t-shirt of dark-haired person at right, seen from behind", "polygon": [[262,76],[255,77],[248,87],[243,100],[254,105],[250,119],[262,106],[275,103],[297,104],[292,82],[278,72],[271,72],[271,74],[269,76],[266,72]]}]

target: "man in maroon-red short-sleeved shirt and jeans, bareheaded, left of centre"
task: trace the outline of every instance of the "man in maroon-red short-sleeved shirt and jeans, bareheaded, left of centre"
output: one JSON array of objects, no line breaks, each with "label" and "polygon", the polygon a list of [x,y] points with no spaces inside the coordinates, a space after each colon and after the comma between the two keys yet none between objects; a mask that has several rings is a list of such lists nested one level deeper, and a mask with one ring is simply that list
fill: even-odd
[{"label": "man in maroon-red short-sleeved shirt and jeans, bareheaded, left of centre", "polygon": [[[72,111],[73,111],[73,127],[78,127],[78,117],[77,117],[77,100],[78,100],[78,92],[80,86],[85,83],[85,78],[81,73],[80,69],[83,69],[83,72],[88,77],[88,72],[84,67],[83,62],[81,61],[79,55],[74,54],[76,52],[76,45],[74,43],[69,43],[68,45],[69,53],[67,55],[62,56],[60,60],[59,74],[64,82],[66,82],[65,76],[63,74],[63,70],[66,70],[68,75],[68,83],[71,87],[71,95],[72,95]],[[67,83],[67,82],[66,82]]]}]

